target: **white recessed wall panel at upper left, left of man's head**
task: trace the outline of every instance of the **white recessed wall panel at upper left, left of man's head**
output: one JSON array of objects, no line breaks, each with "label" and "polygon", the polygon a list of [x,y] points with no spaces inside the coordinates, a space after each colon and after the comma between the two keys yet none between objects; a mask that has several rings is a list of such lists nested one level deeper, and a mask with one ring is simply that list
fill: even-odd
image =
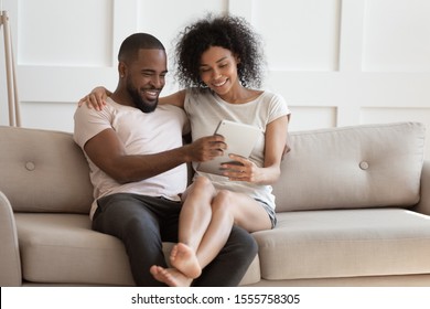
[{"label": "white recessed wall panel at upper left, left of man's head", "polygon": [[20,65],[50,67],[112,65],[112,1],[18,2],[17,52]]}]

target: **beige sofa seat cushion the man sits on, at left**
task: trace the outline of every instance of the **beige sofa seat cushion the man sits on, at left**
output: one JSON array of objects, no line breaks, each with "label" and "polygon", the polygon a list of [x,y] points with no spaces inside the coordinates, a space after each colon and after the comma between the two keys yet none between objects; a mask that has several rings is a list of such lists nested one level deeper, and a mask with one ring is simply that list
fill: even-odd
[{"label": "beige sofa seat cushion the man sits on, at left", "polygon": [[[92,230],[88,215],[15,213],[22,276],[32,283],[132,286],[122,243]],[[164,243],[164,254],[172,244]],[[241,285],[260,280],[258,257]]]}]

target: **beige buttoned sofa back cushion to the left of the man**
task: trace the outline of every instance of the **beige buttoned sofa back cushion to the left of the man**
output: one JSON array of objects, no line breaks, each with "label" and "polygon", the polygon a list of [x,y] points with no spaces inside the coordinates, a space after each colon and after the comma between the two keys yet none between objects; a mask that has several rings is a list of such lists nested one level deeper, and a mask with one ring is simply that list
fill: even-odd
[{"label": "beige buttoned sofa back cushion to the left of the man", "polygon": [[72,134],[0,127],[0,191],[15,212],[89,213],[88,163]]}]

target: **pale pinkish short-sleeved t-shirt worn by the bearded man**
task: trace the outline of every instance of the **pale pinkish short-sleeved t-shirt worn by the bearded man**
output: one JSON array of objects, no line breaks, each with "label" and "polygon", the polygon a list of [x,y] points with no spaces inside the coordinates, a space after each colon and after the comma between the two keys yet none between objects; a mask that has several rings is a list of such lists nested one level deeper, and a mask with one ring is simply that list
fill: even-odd
[{"label": "pale pinkish short-sleeved t-shirt worn by the bearded man", "polygon": [[[150,154],[179,148],[182,146],[182,135],[190,130],[186,115],[181,108],[164,105],[159,106],[153,113],[146,114],[138,108],[117,104],[110,98],[101,111],[86,106],[78,107],[74,118],[74,139],[82,149],[90,138],[111,128],[122,141],[127,154]],[[149,179],[120,184],[87,156],[86,158],[95,198],[90,217],[97,207],[96,200],[105,195],[126,192],[179,201],[178,194],[186,188],[186,164]]]}]

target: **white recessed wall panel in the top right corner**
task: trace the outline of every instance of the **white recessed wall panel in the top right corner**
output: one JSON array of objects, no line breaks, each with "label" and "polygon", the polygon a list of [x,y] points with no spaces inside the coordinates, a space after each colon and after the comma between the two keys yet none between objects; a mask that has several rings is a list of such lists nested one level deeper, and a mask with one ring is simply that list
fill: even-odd
[{"label": "white recessed wall panel in the top right corner", "polygon": [[366,1],[363,71],[430,72],[430,1]]}]

